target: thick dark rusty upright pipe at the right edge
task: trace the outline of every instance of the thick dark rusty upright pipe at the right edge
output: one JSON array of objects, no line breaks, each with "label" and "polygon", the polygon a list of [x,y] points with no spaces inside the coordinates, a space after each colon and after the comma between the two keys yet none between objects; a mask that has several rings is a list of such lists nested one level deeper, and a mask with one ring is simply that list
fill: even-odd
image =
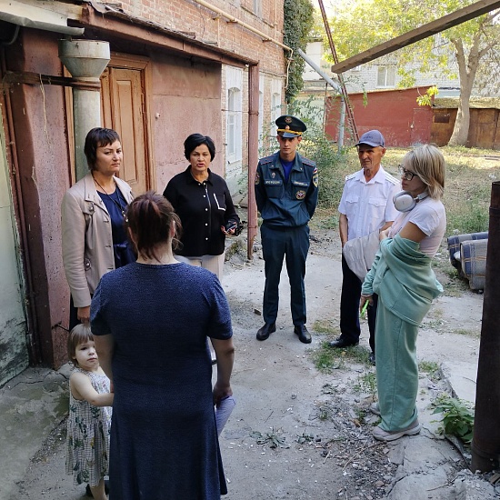
[{"label": "thick dark rusty upright pipe at the right edge", "polygon": [[471,470],[490,472],[500,460],[500,182],[492,184],[486,249],[483,323],[475,389]]}]

